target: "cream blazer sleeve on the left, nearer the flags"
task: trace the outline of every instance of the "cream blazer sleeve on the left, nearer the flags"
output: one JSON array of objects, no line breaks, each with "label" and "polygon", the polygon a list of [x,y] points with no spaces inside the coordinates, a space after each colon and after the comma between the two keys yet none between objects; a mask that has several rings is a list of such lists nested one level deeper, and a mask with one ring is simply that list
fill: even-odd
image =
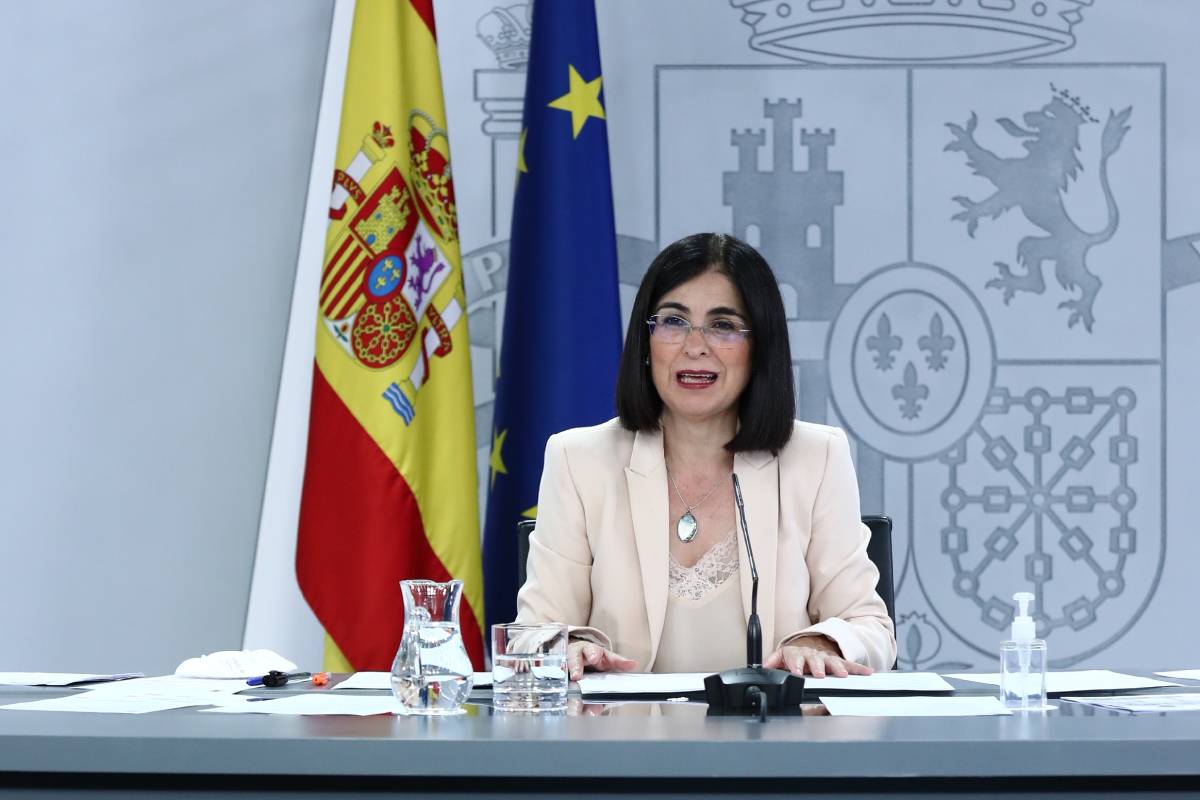
[{"label": "cream blazer sleeve on the left, nearer the flags", "polygon": [[565,622],[571,638],[612,649],[592,616],[592,546],[583,498],[571,475],[562,434],[546,441],[538,488],[538,525],[529,535],[526,583],[517,593],[518,622]]}]

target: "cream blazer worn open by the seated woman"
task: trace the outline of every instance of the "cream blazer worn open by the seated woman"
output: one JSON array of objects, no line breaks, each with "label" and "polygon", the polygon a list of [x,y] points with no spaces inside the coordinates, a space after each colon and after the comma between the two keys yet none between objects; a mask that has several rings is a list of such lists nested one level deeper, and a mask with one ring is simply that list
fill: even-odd
[{"label": "cream blazer worn open by the seated woman", "polygon": [[[738,453],[733,471],[758,567],[763,648],[823,633],[845,657],[890,669],[895,631],[875,591],[846,434],[797,421],[778,457]],[[659,432],[635,434],[610,420],[551,437],[517,621],[565,622],[572,636],[653,669],[667,609],[668,491]],[[738,551],[749,619],[742,536]]]}]

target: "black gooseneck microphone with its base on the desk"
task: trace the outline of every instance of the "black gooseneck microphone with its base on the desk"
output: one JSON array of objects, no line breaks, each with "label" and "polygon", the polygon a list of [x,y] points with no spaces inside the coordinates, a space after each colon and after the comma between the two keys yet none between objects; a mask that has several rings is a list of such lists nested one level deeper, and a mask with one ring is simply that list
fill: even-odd
[{"label": "black gooseneck microphone with its base on the desk", "polygon": [[804,694],[804,679],[786,669],[767,669],[762,666],[762,621],[758,619],[758,567],[754,561],[750,543],[750,527],[746,524],[746,507],[742,500],[742,485],[733,475],[733,500],[742,521],[742,541],[746,546],[750,561],[750,618],[746,621],[746,666],[726,669],[704,679],[704,694],[709,714],[745,714],[754,711],[763,722],[767,709],[799,711]]}]

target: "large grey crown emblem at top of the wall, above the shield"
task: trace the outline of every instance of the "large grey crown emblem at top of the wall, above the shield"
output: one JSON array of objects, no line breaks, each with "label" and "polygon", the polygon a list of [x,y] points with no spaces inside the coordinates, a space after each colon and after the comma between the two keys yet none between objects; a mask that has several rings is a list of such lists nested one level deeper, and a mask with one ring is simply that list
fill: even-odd
[{"label": "large grey crown emblem at top of the wall, above the shield", "polygon": [[1092,0],[730,0],[750,47],[811,64],[992,64],[1058,53]]}]

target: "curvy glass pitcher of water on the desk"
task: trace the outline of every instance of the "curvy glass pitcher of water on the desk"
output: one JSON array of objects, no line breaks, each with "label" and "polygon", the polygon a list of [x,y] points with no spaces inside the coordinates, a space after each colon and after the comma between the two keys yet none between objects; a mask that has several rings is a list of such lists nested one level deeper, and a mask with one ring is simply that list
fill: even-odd
[{"label": "curvy glass pitcher of water on the desk", "polygon": [[413,714],[457,714],[474,672],[458,628],[462,581],[401,581],[404,636],[391,664],[391,693]]}]

